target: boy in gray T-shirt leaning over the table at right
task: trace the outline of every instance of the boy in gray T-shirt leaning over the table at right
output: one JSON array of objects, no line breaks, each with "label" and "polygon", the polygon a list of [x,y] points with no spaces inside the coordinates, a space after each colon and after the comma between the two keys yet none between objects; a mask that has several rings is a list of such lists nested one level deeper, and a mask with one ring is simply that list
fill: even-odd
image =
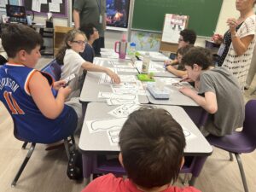
[{"label": "boy in gray T-shirt leaning over the table at right", "polygon": [[200,47],[191,48],[183,55],[188,78],[199,81],[199,91],[189,87],[180,91],[210,113],[203,135],[221,137],[243,125],[244,101],[237,79],[224,67],[212,67],[209,55],[210,50]]}]

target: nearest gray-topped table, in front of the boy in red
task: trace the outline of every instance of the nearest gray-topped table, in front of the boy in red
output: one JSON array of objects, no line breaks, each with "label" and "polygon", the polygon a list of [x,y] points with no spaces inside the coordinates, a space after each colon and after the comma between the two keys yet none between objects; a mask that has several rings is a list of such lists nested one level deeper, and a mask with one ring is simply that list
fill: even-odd
[{"label": "nearest gray-topped table, in front of the boy in red", "polygon": [[[183,108],[177,106],[151,106],[165,108],[183,128],[190,132],[191,137],[186,137],[187,145],[186,148],[184,148],[184,155],[195,157],[195,166],[196,163],[200,164],[197,175],[193,175],[191,179],[193,181],[191,184],[195,183],[195,178],[199,176],[207,156],[212,154],[211,145],[207,142],[206,138],[203,137]],[[83,173],[85,178],[90,178],[90,174],[95,173],[94,168],[96,166],[95,161],[97,154],[119,153],[119,146],[110,144],[107,131],[90,133],[86,124],[89,120],[114,119],[114,117],[108,113],[114,108],[117,108],[117,106],[108,106],[107,103],[104,102],[90,102],[87,106],[84,125],[79,138],[79,149],[83,157]]]}]

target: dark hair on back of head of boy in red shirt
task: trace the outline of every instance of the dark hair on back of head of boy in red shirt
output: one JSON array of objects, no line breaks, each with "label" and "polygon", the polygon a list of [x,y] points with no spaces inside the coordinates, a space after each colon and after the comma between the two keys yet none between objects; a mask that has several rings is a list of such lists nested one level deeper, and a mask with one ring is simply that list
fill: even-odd
[{"label": "dark hair on back of head of boy in red shirt", "polygon": [[119,134],[128,177],[148,189],[177,180],[185,145],[181,126],[161,108],[131,113]]}]

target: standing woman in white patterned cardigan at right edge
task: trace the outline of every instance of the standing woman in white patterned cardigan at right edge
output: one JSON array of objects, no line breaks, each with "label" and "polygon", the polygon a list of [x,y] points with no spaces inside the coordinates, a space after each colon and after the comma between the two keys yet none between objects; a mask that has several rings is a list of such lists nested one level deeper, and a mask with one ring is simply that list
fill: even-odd
[{"label": "standing woman in white patterned cardigan at right edge", "polygon": [[246,85],[255,45],[255,3],[256,0],[236,0],[236,9],[240,12],[240,17],[237,20],[227,20],[230,29],[224,37],[218,34],[212,37],[215,43],[221,44],[218,50],[218,66],[227,67],[236,76],[241,88]]}]

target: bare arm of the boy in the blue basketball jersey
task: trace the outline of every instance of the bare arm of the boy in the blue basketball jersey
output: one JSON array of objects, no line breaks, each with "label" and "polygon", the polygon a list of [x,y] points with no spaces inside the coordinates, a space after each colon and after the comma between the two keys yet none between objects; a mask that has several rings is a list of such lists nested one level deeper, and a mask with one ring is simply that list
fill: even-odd
[{"label": "bare arm of the boy in the blue basketball jersey", "polygon": [[65,98],[71,92],[70,87],[61,87],[56,98],[51,92],[47,79],[41,73],[34,73],[28,82],[33,101],[39,110],[49,119],[57,118],[64,108]]}]

